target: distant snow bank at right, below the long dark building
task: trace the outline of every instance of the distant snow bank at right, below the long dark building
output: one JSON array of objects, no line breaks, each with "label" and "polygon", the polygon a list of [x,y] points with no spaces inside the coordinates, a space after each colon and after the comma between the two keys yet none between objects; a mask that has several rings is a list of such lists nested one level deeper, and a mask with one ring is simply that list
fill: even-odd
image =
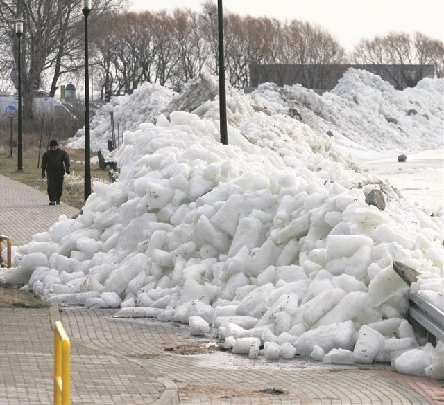
[{"label": "distant snow bank at right, below the long dark building", "polygon": [[336,143],[367,150],[426,150],[443,147],[444,80],[426,78],[398,91],[368,71],[348,69],[336,87],[319,96],[300,85],[261,84],[252,96],[264,107],[331,131]]}]

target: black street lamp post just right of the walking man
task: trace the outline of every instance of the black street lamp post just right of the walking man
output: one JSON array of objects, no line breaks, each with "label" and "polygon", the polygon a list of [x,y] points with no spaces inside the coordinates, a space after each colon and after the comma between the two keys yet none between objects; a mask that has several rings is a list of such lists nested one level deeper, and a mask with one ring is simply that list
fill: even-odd
[{"label": "black street lamp post just right of the walking man", "polygon": [[89,66],[88,66],[88,15],[91,0],[82,0],[82,12],[85,16],[85,200],[91,194],[91,150],[89,127]]}]

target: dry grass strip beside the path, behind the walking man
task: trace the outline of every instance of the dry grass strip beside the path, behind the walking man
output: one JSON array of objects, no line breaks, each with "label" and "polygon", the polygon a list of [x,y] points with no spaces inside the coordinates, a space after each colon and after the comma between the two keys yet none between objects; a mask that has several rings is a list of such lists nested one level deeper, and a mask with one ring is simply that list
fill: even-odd
[{"label": "dry grass strip beside the path, behind the walking man", "polygon": [[[63,143],[63,141],[61,141]],[[84,165],[85,159],[84,150],[74,150],[62,147],[71,159],[71,174],[65,176],[65,185],[63,188],[62,201],[65,204],[75,208],[82,208],[85,204],[84,194]],[[35,134],[24,135],[23,142],[23,170],[17,170],[17,147],[12,150],[12,157],[10,156],[10,145],[4,138],[1,139],[0,145],[0,172],[4,176],[10,177],[15,181],[20,181],[28,186],[37,188],[46,193],[46,179],[40,176],[40,163],[42,155],[46,150],[46,145],[42,150],[38,148],[38,137],[36,143]],[[91,156],[95,156],[94,152]],[[108,172],[99,168],[99,163],[91,165],[92,181],[100,180],[104,183],[110,183]]]}]

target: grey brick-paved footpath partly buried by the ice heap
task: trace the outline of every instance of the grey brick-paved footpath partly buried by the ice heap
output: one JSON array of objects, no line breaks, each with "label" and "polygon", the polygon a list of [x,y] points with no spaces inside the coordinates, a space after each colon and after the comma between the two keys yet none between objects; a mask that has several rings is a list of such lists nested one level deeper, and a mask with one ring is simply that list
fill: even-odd
[{"label": "grey brick-paved footpath partly buried by the ice heap", "polygon": [[[0,174],[0,233],[13,246],[31,242],[60,215],[76,214]],[[190,336],[188,325],[114,318],[116,312],[0,308],[0,404],[53,404],[51,324],[59,320],[71,341],[71,404],[444,404],[440,381],[400,375],[389,365],[248,359],[205,348],[221,342]]]}]

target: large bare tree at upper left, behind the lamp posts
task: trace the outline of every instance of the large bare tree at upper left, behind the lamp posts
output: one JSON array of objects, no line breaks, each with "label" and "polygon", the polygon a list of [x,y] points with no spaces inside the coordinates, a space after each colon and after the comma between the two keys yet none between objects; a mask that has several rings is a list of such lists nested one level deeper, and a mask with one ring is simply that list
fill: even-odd
[{"label": "large bare tree at upper left, behind the lamp posts", "polygon": [[[90,18],[94,21],[97,15],[113,12],[123,3],[126,0],[96,0]],[[17,17],[26,20],[22,36],[22,92],[27,120],[33,118],[36,89],[49,79],[53,95],[61,75],[81,68],[83,14],[79,4],[69,0],[0,0],[0,36],[6,42],[1,45],[6,56],[0,64],[1,71],[10,71],[17,64],[12,22]]]}]

